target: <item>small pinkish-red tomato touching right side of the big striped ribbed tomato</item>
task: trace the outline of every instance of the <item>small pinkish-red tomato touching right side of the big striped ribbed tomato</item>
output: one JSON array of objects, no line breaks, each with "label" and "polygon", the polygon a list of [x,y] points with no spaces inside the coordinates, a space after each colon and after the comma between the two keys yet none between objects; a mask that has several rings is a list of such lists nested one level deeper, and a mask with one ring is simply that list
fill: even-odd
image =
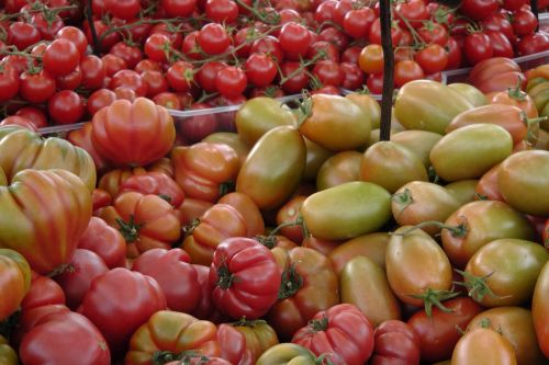
[{"label": "small pinkish-red tomato touching right side of the big striped ribbed tomato", "polygon": [[78,241],[78,248],[96,252],[109,269],[125,266],[126,242],[124,237],[99,217],[91,217]]}]

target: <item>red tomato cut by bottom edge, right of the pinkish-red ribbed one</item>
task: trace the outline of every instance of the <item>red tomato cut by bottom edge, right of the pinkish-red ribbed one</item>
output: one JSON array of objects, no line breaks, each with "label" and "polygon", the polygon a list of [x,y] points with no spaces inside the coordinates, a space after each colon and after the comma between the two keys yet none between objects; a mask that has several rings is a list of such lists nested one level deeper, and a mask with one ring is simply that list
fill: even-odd
[{"label": "red tomato cut by bottom edge, right of the pinkish-red ribbed one", "polygon": [[388,320],[373,332],[374,346],[370,358],[372,365],[392,364],[393,362],[419,363],[419,338],[405,322]]}]

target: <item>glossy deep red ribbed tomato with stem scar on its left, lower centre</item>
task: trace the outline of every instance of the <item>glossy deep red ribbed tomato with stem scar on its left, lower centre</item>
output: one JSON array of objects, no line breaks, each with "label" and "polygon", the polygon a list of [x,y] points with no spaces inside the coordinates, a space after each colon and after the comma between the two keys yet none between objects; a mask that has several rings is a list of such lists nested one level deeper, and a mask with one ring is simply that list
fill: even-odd
[{"label": "glossy deep red ribbed tomato with stem scar on its left, lower centre", "polygon": [[249,238],[224,240],[210,267],[212,300],[232,318],[256,319],[277,301],[281,270],[265,246]]}]

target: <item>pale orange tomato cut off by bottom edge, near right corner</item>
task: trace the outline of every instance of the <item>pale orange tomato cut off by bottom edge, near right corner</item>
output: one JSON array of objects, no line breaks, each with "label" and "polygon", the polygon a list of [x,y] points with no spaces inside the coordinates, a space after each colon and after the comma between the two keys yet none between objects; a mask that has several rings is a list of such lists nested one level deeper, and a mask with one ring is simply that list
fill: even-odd
[{"label": "pale orange tomato cut off by bottom edge, near right corner", "polygon": [[456,344],[451,355],[455,365],[486,364],[516,365],[512,344],[500,333],[489,329],[475,329],[467,332]]}]

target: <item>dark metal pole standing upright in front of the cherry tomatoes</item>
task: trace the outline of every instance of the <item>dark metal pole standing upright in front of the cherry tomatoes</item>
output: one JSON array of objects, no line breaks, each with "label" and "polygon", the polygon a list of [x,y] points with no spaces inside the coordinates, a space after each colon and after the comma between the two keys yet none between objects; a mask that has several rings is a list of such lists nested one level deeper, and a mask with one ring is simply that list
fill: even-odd
[{"label": "dark metal pole standing upright in front of the cherry tomatoes", "polygon": [[380,0],[381,46],[383,47],[383,93],[381,99],[380,140],[391,136],[391,107],[393,104],[394,54],[391,38],[391,2]]}]

